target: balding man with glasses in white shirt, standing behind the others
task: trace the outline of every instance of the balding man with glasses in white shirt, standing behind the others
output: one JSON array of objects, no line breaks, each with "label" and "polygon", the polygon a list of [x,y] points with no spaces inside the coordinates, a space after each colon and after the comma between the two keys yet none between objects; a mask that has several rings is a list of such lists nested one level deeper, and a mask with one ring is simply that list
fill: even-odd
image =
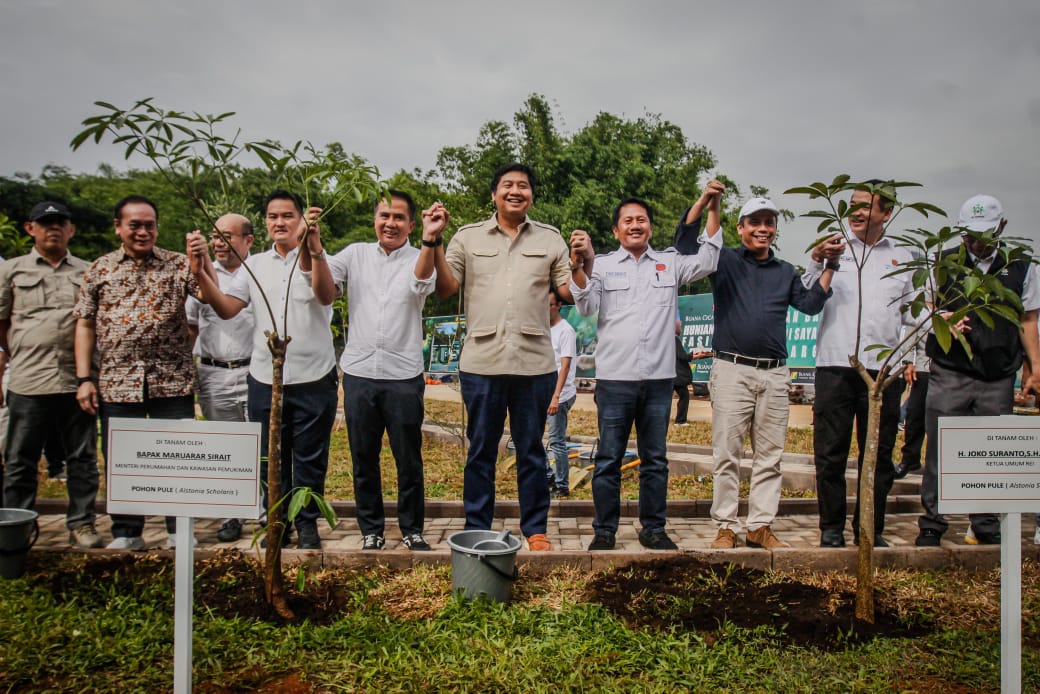
[{"label": "balding man with glasses in white shirt, standing behind the others", "polygon": [[[232,280],[244,275],[242,260],[253,247],[253,223],[241,214],[225,214],[216,221],[223,236],[213,233],[216,279],[223,291]],[[234,252],[232,252],[234,249]],[[210,421],[248,421],[250,357],[253,353],[253,307],[246,306],[238,315],[224,320],[211,306],[189,297],[185,310],[188,325],[198,337],[194,353],[199,355],[196,371],[199,376],[199,407]],[[242,535],[238,518],[227,518],[216,532],[220,542],[234,542]]]}]

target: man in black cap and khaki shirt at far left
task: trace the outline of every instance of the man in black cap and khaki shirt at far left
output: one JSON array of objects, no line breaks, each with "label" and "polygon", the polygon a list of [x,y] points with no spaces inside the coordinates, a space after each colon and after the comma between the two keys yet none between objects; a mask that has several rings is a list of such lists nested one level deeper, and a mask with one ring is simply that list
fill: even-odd
[{"label": "man in black cap and khaki shirt at far left", "polygon": [[72,312],[89,263],[69,254],[76,227],[64,205],[40,203],[25,231],[32,236],[32,250],[0,265],[0,374],[7,359],[15,365],[7,384],[4,505],[33,507],[36,465],[48,437],[57,431],[68,466],[70,541],[100,547],[94,528],[98,431],[94,415],[76,401]]}]

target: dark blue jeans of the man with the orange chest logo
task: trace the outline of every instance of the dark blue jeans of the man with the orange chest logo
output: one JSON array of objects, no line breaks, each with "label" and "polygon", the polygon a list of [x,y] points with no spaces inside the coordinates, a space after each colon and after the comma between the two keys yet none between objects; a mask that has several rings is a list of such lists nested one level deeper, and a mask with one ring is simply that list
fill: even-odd
[{"label": "dark blue jeans of the man with the orange chest logo", "polygon": [[665,530],[668,505],[668,420],[672,379],[596,381],[599,448],[592,477],[593,530],[617,533],[621,519],[621,461],[635,425],[640,455],[640,522],[643,532]]}]

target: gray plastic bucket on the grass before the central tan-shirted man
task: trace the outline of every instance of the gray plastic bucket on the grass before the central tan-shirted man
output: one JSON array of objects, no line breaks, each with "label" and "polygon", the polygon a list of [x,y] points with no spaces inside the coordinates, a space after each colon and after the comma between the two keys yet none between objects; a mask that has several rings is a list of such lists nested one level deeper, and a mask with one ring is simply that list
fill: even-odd
[{"label": "gray plastic bucket on the grass before the central tan-shirted man", "polygon": [[517,577],[520,538],[496,531],[462,531],[448,537],[451,547],[451,591],[467,600],[484,595],[509,602]]}]

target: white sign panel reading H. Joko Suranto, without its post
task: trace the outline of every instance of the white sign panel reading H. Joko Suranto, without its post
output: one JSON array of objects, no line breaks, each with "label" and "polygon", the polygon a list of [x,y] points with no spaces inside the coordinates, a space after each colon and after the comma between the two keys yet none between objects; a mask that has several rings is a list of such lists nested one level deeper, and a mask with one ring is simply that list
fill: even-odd
[{"label": "white sign panel reading H. Joko Suranto, without its post", "polygon": [[940,417],[940,513],[1040,509],[1037,417]]}]

